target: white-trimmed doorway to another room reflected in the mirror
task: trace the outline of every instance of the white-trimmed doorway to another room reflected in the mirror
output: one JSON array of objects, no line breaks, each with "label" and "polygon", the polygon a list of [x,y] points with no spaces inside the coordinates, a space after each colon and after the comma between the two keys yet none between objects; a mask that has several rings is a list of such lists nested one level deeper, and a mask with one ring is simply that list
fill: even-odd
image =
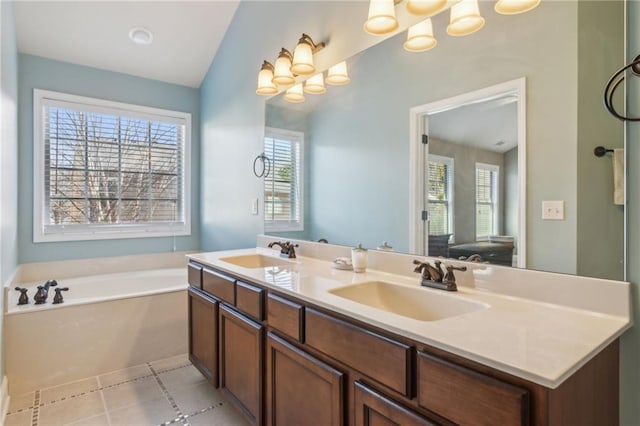
[{"label": "white-trimmed doorway to another room reflected in the mirror", "polygon": [[412,252],[525,266],[524,87],[514,80],[412,109],[417,136],[428,135],[414,142],[424,237]]}]

